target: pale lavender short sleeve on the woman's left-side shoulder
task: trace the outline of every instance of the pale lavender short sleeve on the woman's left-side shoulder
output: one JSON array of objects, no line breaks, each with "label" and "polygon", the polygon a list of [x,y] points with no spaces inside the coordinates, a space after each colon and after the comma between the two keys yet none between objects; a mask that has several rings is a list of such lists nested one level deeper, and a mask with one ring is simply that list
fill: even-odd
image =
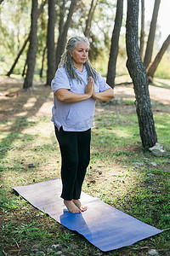
[{"label": "pale lavender short sleeve on the woman's left-side shoulder", "polygon": [[55,73],[54,79],[51,82],[51,89],[54,93],[59,89],[71,89],[65,67],[59,67]]}]

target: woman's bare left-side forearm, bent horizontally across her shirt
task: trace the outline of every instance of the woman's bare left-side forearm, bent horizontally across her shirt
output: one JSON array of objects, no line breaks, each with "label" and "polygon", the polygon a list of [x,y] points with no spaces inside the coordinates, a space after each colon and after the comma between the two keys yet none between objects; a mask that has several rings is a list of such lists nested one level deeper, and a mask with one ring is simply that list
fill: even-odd
[{"label": "woman's bare left-side forearm, bent horizontally across her shirt", "polygon": [[82,102],[91,97],[86,93],[77,94],[69,90],[57,90],[55,96],[59,102]]}]

